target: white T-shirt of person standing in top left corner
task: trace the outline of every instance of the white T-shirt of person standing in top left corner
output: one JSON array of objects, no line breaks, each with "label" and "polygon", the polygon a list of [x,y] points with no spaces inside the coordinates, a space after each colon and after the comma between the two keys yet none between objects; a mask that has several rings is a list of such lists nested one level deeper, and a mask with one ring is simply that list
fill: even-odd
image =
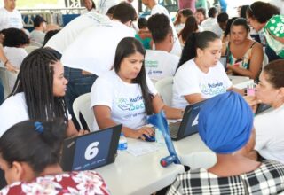
[{"label": "white T-shirt of person standing in top left corner", "polygon": [[8,12],[4,7],[0,8],[0,30],[10,27],[23,28],[20,12],[18,10]]}]

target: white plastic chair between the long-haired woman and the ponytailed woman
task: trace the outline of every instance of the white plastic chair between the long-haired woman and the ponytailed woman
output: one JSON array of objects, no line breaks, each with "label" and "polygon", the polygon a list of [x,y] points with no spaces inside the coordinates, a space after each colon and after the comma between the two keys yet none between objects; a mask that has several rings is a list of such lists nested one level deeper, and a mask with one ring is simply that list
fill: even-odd
[{"label": "white plastic chair between the long-haired woman and the ponytailed woman", "polygon": [[173,77],[169,76],[166,78],[163,78],[155,83],[155,88],[158,90],[159,94],[162,97],[163,102],[166,105],[171,104],[171,98],[172,98],[172,84],[173,84]]}]

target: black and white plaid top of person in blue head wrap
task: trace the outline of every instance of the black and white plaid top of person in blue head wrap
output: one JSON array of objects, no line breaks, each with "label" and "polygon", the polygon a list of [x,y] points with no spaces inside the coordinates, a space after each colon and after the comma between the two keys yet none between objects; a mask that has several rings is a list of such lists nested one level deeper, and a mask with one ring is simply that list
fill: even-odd
[{"label": "black and white plaid top of person in blue head wrap", "polygon": [[205,168],[177,175],[167,195],[180,194],[278,194],[284,192],[284,165],[265,160],[242,175],[218,177]]}]

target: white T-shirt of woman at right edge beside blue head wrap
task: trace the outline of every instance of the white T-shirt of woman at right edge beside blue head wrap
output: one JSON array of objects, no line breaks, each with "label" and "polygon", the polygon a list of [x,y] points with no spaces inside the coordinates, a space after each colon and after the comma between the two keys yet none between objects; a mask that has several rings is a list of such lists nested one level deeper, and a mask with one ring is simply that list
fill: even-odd
[{"label": "white T-shirt of woman at right edge beside blue head wrap", "polygon": [[268,160],[284,163],[284,105],[269,113],[256,115],[255,149]]}]

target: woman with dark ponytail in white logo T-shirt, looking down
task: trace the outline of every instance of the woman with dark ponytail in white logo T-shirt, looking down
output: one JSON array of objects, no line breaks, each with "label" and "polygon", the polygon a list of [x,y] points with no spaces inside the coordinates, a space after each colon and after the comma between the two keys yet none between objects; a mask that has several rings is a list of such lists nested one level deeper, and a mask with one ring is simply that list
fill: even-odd
[{"label": "woman with dark ponytail in white logo T-shirt, looking down", "polygon": [[221,49],[221,40],[210,31],[188,36],[174,76],[172,106],[185,108],[231,88],[219,62]]}]

